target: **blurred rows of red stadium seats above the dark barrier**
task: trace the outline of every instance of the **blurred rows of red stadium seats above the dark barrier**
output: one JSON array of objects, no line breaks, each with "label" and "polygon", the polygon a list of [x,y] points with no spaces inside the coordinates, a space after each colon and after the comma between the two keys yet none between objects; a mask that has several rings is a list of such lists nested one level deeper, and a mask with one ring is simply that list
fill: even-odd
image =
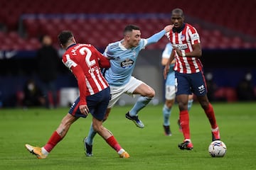
[{"label": "blurred rows of red stadium seats above the dark barrier", "polygon": [[[25,50],[31,50],[38,47],[34,43],[34,38],[38,38],[38,35],[50,33],[55,38],[60,30],[67,28],[79,33],[79,41],[88,40],[98,47],[105,47],[107,42],[117,40],[127,23],[136,23],[142,28],[143,37],[146,37],[169,23],[169,13],[174,7],[183,8],[186,21],[196,24],[201,33],[203,48],[256,47],[256,23],[253,22],[256,1],[244,3],[240,0],[218,0],[213,3],[210,0],[195,0],[188,4],[186,0],[159,0],[157,3],[153,0],[146,3],[95,0],[87,3],[90,1],[82,1],[81,4],[78,0],[73,0],[72,3],[68,0],[61,3],[50,0],[23,0],[22,3],[18,0],[1,0],[0,22],[6,30],[1,34],[9,42],[1,46],[1,50],[23,49],[20,43],[23,41],[29,44],[25,46]],[[87,16],[76,15],[76,18],[73,15],[81,13]],[[150,13],[151,18],[142,15],[145,13]],[[161,16],[163,13],[164,16]],[[9,32],[18,35],[14,36],[16,38],[10,37]],[[88,32],[90,35],[87,35]],[[104,38],[99,34],[102,32]],[[166,41],[161,41],[150,48],[163,48],[165,43]]]}]

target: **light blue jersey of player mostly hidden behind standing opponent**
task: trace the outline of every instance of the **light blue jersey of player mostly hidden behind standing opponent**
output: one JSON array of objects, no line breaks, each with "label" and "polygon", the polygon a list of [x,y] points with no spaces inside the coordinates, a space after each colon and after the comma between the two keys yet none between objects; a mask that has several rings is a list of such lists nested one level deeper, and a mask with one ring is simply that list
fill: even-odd
[{"label": "light blue jersey of player mostly hidden behind standing opponent", "polygon": [[[164,52],[162,53],[163,58],[169,59],[171,55],[173,47],[171,46],[171,43],[167,43],[166,47],[164,48]],[[170,64],[169,73],[166,77],[166,86],[174,86],[175,85],[175,73],[174,73],[174,64]]]}]

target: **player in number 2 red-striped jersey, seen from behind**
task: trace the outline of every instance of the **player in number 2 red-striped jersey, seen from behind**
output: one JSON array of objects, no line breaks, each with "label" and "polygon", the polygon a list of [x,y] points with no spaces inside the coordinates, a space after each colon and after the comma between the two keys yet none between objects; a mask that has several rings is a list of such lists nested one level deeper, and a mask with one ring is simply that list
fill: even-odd
[{"label": "player in number 2 red-striped jersey, seen from behind", "polygon": [[60,45],[66,50],[63,63],[78,80],[80,97],[73,103],[70,111],[53,132],[44,147],[33,147],[26,144],[26,149],[38,159],[45,159],[55,145],[67,134],[70,126],[78,118],[92,115],[93,129],[115,149],[119,157],[129,158],[129,154],[119,145],[110,130],[103,127],[107,105],[110,101],[110,87],[100,72],[100,68],[109,68],[110,61],[90,44],[77,44],[73,33],[63,31],[58,35]]}]

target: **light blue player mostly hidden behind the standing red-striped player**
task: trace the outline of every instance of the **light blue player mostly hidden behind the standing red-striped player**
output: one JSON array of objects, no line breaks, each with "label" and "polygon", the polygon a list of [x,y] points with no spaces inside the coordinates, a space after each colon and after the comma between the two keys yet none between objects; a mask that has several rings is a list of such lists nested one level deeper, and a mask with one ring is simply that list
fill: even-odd
[{"label": "light blue player mostly hidden behind the standing red-striped player", "polygon": [[[166,65],[166,63],[169,60],[169,57],[171,56],[171,51],[173,50],[173,47],[171,46],[171,42],[166,44],[166,47],[164,48],[164,51],[162,53],[162,60],[161,64]],[[170,116],[171,116],[171,108],[174,106],[175,102],[175,72],[174,72],[174,63],[171,62],[170,64],[170,69],[166,77],[166,82],[165,82],[165,103],[163,107],[163,117],[164,117],[164,134],[166,136],[171,136],[171,129],[170,129]],[[190,110],[191,106],[193,103],[193,94],[188,96],[188,111]],[[181,126],[178,120],[178,127],[179,130],[181,131]]]}]

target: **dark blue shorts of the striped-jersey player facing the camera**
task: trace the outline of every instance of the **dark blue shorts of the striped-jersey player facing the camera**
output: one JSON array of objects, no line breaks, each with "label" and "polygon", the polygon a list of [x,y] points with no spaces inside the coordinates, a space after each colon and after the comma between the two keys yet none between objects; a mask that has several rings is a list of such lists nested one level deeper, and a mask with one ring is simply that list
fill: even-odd
[{"label": "dark blue shorts of the striped-jersey player facing the camera", "polygon": [[203,72],[183,74],[175,72],[176,96],[180,94],[195,94],[205,96],[207,94],[206,79]]}]

